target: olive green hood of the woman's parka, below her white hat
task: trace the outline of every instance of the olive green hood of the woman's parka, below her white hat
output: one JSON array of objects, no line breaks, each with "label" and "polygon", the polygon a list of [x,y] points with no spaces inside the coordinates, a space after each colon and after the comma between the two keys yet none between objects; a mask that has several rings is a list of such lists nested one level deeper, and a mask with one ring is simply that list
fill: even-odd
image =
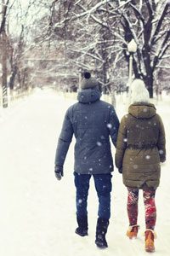
[{"label": "olive green hood of the woman's parka, below her white hat", "polygon": [[133,103],[129,106],[128,113],[137,119],[150,119],[156,115],[156,107],[151,103]]}]

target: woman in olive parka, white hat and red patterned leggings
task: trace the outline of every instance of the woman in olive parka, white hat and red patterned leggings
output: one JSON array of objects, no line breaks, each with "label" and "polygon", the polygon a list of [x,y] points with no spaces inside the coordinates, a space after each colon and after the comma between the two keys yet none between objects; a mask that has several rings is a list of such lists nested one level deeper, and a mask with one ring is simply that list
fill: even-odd
[{"label": "woman in olive parka, white hat and red patterned leggings", "polygon": [[139,189],[143,189],[145,209],[145,250],[154,252],[156,189],[160,183],[160,162],[166,160],[165,131],[161,117],[150,103],[144,82],[132,84],[132,102],[122,117],[116,143],[116,167],[127,187],[127,236],[137,237]]}]

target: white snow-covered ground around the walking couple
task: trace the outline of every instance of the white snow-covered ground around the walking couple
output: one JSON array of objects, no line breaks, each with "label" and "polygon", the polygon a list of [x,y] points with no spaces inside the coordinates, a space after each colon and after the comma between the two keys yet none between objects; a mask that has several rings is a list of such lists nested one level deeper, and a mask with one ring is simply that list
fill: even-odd
[{"label": "white snow-covered ground around the walking couple", "polygon": [[[115,170],[111,203],[108,249],[94,244],[97,196],[91,180],[88,201],[89,236],[74,233],[75,188],[73,183],[73,144],[65,161],[65,177],[54,177],[54,154],[66,108],[74,100],[39,91],[13,108],[0,110],[0,255],[2,256],[112,256],[148,255],[144,252],[144,206],[139,200],[139,238],[125,236],[128,222],[127,190]],[[170,151],[170,103],[158,103]],[[124,114],[117,101],[119,118]],[[114,149],[113,149],[114,153]],[[170,251],[170,161],[161,167],[161,185],[156,192],[156,256]]]}]

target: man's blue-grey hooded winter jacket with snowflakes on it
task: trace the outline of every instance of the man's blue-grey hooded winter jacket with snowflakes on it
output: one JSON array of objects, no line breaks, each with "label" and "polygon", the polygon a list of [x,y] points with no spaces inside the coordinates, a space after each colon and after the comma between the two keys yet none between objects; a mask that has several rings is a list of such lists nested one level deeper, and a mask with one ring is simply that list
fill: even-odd
[{"label": "man's blue-grey hooded winter jacket with snowflakes on it", "polygon": [[78,102],[68,108],[55,155],[55,165],[63,166],[73,134],[76,137],[74,172],[101,174],[113,171],[111,143],[116,146],[119,128],[115,109],[100,100],[98,89],[78,93]]}]

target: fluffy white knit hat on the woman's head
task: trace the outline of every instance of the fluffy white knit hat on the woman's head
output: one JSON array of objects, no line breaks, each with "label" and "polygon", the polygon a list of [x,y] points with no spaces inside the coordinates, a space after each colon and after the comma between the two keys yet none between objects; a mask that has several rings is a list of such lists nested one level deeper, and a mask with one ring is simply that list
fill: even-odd
[{"label": "fluffy white knit hat on the woman's head", "polygon": [[150,102],[149,91],[145,88],[144,81],[134,79],[131,84],[131,102]]}]

